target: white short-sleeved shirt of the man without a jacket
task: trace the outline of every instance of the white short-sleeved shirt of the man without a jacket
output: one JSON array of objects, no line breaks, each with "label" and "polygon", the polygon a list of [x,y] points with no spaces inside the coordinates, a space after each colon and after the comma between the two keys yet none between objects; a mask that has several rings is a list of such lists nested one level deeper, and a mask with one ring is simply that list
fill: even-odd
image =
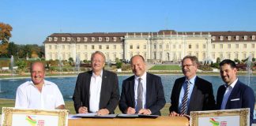
[{"label": "white short-sleeved shirt of the man without a jacket", "polygon": [[44,80],[42,91],[32,81],[17,88],[15,107],[21,109],[55,109],[65,105],[62,93],[55,83]]}]

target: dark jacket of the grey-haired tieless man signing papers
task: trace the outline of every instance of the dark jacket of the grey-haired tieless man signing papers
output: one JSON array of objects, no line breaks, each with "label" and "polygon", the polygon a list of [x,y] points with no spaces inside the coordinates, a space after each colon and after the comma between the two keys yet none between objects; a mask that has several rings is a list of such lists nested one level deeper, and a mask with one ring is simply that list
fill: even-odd
[{"label": "dark jacket of the grey-haired tieless man signing papers", "polygon": [[[92,71],[82,72],[77,76],[76,87],[73,91],[73,106],[78,113],[81,106],[88,109],[90,98],[90,82]],[[114,113],[116,106],[119,104],[119,81],[114,72],[103,70],[102,85],[100,91],[100,109],[108,109]]]}]

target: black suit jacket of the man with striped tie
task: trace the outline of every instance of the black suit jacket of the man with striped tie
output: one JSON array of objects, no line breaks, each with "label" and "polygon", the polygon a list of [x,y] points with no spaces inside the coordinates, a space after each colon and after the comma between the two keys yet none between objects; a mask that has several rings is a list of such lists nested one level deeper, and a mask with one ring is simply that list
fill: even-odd
[{"label": "black suit jacket of the man with striped tie", "polygon": [[[179,112],[179,94],[185,80],[185,76],[175,80],[175,84],[171,91],[170,113],[172,111],[175,111],[176,113]],[[207,80],[203,80],[197,76],[190,96],[190,105],[188,106],[186,114],[190,115],[190,111],[211,109],[216,109],[212,83],[209,83]]]}]

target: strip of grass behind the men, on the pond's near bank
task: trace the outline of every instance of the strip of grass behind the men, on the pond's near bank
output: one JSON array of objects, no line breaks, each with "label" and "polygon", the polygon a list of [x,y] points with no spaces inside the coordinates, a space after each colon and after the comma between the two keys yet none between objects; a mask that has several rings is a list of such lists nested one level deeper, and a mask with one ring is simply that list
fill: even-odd
[{"label": "strip of grass behind the men, on the pond's near bank", "polygon": [[[73,102],[65,102],[66,109],[70,110],[70,113],[74,114],[76,113],[73,108]],[[10,99],[0,99],[0,113],[2,114],[2,107],[13,107],[14,106],[14,100]],[[163,109],[161,109],[161,113],[163,116],[167,116],[169,114],[169,107],[170,104],[166,104]],[[115,109],[115,113],[121,113],[119,108],[117,107]]]}]

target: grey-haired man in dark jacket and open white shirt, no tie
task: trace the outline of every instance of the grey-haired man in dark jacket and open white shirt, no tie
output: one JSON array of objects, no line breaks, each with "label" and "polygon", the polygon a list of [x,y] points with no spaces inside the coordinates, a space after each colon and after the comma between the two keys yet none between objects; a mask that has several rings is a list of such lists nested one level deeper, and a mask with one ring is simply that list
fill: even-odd
[{"label": "grey-haired man in dark jacket and open white shirt, no tie", "polygon": [[91,57],[92,71],[77,76],[73,105],[77,113],[114,113],[119,104],[119,82],[114,72],[104,70],[106,58],[96,51]]}]

